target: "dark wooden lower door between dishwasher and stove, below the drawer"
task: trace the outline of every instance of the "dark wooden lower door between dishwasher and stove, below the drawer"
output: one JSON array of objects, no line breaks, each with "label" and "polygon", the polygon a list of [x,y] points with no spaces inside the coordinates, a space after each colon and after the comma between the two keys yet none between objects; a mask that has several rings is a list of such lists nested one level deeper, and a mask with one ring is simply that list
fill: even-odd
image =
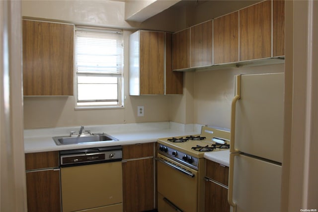
[{"label": "dark wooden lower door between dishwasher and stove, below the drawer", "polygon": [[154,207],[154,158],[123,162],[124,212],[142,212]]}]

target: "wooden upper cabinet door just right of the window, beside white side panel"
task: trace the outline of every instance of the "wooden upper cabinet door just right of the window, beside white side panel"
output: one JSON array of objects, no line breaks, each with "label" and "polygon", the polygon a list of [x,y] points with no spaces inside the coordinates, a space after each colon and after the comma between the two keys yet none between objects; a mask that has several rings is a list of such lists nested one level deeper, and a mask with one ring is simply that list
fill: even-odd
[{"label": "wooden upper cabinet door just right of the window, beside white side panel", "polygon": [[140,31],[140,94],[164,94],[164,32]]}]

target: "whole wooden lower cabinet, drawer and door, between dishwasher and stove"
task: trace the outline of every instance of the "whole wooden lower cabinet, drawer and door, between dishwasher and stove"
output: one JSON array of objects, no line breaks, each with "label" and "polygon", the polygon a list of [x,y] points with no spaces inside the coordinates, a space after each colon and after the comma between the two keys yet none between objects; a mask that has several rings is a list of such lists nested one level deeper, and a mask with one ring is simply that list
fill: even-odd
[{"label": "whole wooden lower cabinet, drawer and door, between dishwasher and stove", "polygon": [[123,146],[123,212],[155,209],[154,160],[154,143]]}]

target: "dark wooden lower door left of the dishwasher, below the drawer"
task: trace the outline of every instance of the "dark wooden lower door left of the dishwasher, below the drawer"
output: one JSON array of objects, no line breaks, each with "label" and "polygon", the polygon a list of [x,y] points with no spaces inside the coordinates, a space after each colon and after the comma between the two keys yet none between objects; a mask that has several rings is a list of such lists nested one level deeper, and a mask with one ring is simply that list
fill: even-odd
[{"label": "dark wooden lower door left of the dishwasher, below the drawer", "polygon": [[60,170],[26,173],[28,212],[61,212]]}]

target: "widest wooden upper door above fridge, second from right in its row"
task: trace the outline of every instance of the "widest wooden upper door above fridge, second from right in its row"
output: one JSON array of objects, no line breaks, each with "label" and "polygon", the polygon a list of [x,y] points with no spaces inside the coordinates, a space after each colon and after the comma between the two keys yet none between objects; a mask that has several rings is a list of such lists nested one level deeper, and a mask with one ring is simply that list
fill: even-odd
[{"label": "widest wooden upper door above fridge, second from right in its row", "polygon": [[239,60],[271,57],[271,1],[239,10]]}]

